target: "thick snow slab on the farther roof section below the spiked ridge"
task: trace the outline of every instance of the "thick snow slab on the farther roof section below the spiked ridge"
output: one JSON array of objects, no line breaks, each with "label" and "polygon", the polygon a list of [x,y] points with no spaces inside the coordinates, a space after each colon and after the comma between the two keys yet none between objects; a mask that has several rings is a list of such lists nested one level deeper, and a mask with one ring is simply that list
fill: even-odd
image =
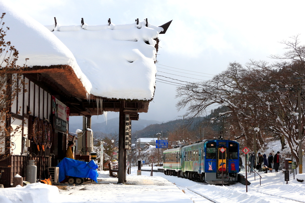
[{"label": "thick snow slab on the farther roof section below the spiked ridge", "polygon": [[[151,100],[155,90],[156,39],[162,27],[143,22],[46,26],[72,51],[95,96]],[[148,42],[149,44],[145,43]]]}]

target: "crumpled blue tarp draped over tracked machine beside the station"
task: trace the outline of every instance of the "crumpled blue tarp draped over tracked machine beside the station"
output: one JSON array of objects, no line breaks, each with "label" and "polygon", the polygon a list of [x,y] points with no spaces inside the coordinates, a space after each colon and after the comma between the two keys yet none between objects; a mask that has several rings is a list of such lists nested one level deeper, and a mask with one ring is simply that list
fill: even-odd
[{"label": "crumpled blue tarp draped over tracked machine beside the station", "polygon": [[59,182],[63,181],[66,176],[90,178],[97,182],[97,177],[99,176],[96,170],[99,166],[94,160],[84,162],[64,158],[56,167],[59,167]]}]

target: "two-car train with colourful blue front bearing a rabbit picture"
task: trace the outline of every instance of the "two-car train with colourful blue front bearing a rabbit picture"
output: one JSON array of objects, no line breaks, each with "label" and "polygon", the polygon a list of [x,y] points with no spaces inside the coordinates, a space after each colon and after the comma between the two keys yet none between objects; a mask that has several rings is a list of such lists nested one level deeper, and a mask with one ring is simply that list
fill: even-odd
[{"label": "two-car train with colourful blue front bearing a rabbit picture", "polygon": [[239,143],[205,139],[164,150],[163,169],[165,175],[207,184],[234,184],[239,173]]}]

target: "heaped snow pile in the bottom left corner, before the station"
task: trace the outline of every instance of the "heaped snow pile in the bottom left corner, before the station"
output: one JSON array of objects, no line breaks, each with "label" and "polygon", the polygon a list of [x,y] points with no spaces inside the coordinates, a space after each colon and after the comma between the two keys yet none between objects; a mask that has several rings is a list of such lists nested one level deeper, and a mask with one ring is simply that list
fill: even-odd
[{"label": "heaped snow pile in the bottom left corner, before the station", "polygon": [[1,203],[48,203],[58,198],[59,192],[56,186],[42,183],[28,184],[27,186],[0,189]]}]

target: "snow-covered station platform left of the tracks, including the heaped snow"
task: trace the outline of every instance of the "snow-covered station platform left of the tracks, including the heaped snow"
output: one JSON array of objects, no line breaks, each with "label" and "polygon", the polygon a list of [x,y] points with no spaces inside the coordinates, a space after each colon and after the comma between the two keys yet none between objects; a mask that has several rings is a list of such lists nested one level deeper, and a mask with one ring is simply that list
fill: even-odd
[{"label": "snow-covered station platform left of the tracks, including the heaped snow", "polygon": [[0,189],[1,203],[193,203],[175,184],[163,177],[127,175],[127,184],[105,177],[98,183],[82,184],[58,190],[41,183],[26,187]]}]

